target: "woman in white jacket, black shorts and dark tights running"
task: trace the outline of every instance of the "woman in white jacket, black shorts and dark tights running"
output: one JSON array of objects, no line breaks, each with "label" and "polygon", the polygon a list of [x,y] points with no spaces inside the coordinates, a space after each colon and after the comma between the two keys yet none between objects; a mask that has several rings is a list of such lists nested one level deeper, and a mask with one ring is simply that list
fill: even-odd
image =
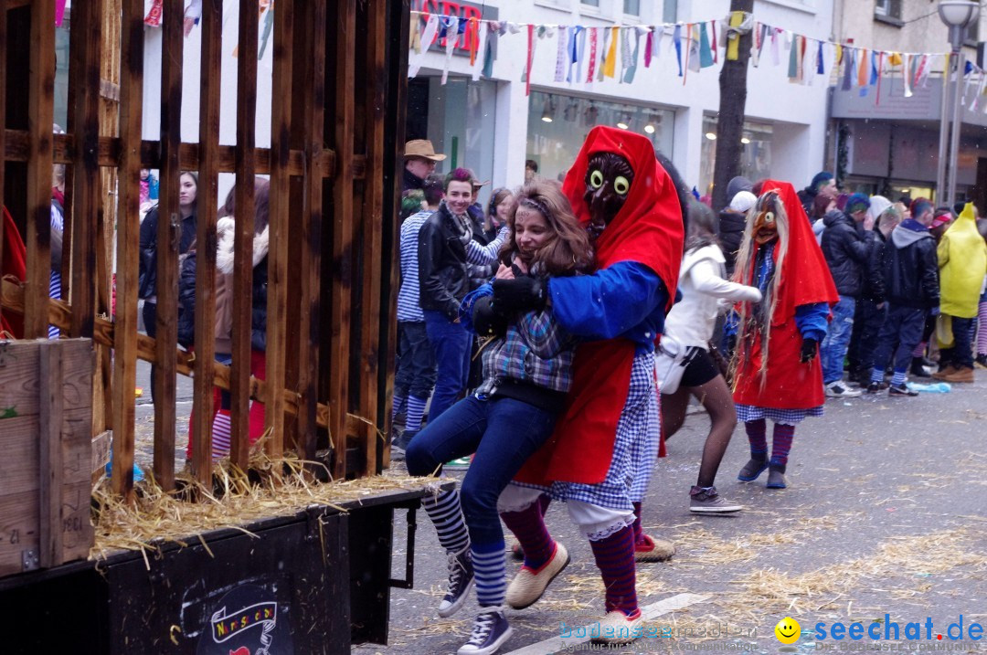
[{"label": "woman in white jacket, black shorts and dark tights running", "polygon": [[[681,381],[661,389],[661,426],[668,439],[685,421],[689,397],[696,397],[710,415],[710,434],[703,448],[699,478],[689,492],[690,511],[698,513],[736,512],[740,505],[727,502],[714,486],[720,462],[736,427],[736,411],[729,387],[710,354],[710,338],[721,309],[734,302],[759,302],[755,287],[723,279],[724,258],[717,242],[713,211],[699,202],[689,208],[689,235],[679,269],[682,300],[665,319],[661,343],[682,353],[676,360],[683,366]],[[673,388],[674,387],[674,388]]]}]

